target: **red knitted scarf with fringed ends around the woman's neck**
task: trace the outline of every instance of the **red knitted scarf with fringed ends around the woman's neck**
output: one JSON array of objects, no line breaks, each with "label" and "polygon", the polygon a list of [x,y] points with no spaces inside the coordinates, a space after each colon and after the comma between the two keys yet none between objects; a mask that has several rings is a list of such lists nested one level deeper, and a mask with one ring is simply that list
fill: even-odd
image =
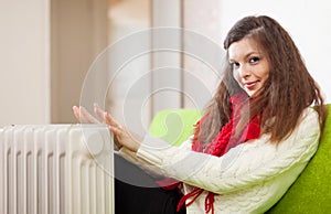
[{"label": "red knitted scarf with fringed ends around the woman's neck", "polygon": [[[243,142],[246,142],[250,139],[257,139],[260,135],[260,124],[257,116],[253,117],[250,121],[244,127],[241,135],[234,136],[234,127],[238,125],[241,119],[241,110],[248,103],[248,97],[244,94],[235,94],[229,98],[232,114],[231,119],[227,124],[225,124],[218,135],[209,143],[205,149],[203,149],[203,143],[197,140],[196,135],[200,130],[201,120],[196,122],[196,128],[194,130],[194,140],[192,142],[192,150],[197,152],[204,152],[216,157],[222,157],[231,148],[236,147]],[[203,118],[202,118],[203,119]],[[195,188],[192,192],[185,194],[178,204],[178,211],[185,203],[185,201],[190,197],[192,200],[186,203],[186,206],[191,205],[203,192],[203,189]],[[209,192],[205,197],[205,213],[212,211],[214,213],[214,196],[215,193]]]}]

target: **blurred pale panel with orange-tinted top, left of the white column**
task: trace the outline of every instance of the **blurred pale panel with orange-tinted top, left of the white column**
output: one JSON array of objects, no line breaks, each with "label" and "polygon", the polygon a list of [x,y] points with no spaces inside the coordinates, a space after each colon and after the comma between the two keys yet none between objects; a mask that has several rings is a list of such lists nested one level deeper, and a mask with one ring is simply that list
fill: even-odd
[{"label": "blurred pale panel with orange-tinted top, left of the white column", "polygon": [[[106,109],[124,126],[145,135],[150,122],[151,90],[150,0],[121,0],[110,4],[108,13],[109,43],[103,54],[109,57]],[[108,56],[106,56],[108,55]]]}]

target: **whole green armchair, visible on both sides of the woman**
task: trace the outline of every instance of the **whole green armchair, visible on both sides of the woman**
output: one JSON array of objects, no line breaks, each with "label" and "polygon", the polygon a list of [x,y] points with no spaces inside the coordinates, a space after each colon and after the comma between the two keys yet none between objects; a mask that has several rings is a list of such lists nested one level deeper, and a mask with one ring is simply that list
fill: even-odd
[{"label": "whole green armchair, visible on both sides of the woman", "polygon": [[[331,113],[331,104],[327,105]],[[158,113],[150,135],[180,146],[193,132],[201,117],[197,109],[167,109]],[[329,213],[331,211],[331,114],[328,114],[319,149],[298,180],[268,214]]]}]

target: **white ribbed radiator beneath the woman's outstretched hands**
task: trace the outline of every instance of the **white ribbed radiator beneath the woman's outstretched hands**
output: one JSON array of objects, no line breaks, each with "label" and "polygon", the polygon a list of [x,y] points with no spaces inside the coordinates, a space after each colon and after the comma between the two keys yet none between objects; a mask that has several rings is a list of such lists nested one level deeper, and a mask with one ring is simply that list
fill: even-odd
[{"label": "white ribbed radiator beneath the woman's outstretched hands", "polygon": [[0,129],[0,213],[113,214],[111,142],[102,125]]}]

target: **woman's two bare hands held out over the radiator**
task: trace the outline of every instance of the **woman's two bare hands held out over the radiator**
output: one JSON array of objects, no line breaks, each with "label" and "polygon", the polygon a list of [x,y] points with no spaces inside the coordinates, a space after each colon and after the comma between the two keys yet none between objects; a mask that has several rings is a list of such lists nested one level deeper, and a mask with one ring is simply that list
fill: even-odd
[{"label": "woman's two bare hands held out over the radiator", "polygon": [[[75,117],[82,124],[99,124],[99,121],[82,106],[74,106],[73,111]],[[142,141],[142,138],[140,136],[122,127],[107,111],[100,109],[100,107],[96,104],[94,105],[94,111],[104,124],[109,126],[109,130],[114,133],[115,137],[115,143],[120,145],[120,147],[127,147],[134,152],[136,152],[139,149],[140,143]]]}]

